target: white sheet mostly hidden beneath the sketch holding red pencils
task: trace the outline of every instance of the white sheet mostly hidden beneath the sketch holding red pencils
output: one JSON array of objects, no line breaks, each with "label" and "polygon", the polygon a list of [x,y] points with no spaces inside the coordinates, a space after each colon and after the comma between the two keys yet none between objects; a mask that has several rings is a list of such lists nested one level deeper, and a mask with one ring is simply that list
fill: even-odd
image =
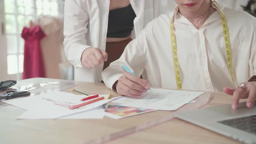
[{"label": "white sheet mostly hidden beneath the sketch holding red pencils", "polygon": [[[76,114],[67,115],[58,119],[102,119],[104,118],[105,111],[102,106],[92,108],[88,111],[82,111]],[[40,115],[35,111],[26,111],[17,119],[50,119],[49,115]]]}]

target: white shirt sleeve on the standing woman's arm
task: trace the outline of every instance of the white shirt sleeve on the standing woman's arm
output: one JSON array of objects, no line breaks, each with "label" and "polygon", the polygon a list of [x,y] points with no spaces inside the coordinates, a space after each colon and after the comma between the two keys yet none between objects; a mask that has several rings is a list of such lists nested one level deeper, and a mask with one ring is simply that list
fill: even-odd
[{"label": "white shirt sleeve on the standing woman's arm", "polygon": [[86,45],[87,25],[89,22],[85,2],[65,0],[64,7],[64,50],[67,59],[75,67],[82,68],[82,52],[91,47]]}]

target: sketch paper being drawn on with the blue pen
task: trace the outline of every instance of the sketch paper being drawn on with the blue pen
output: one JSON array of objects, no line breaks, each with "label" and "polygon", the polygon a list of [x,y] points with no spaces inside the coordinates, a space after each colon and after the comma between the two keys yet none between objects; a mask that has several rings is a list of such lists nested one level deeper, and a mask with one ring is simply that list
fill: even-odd
[{"label": "sketch paper being drawn on with the blue pen", "polygon": [[112,101],[112,104],[136,108],[174,111],[204,93],[158,88],[151,88],[151,90],[152,91],[148,91],[141,95],[141,98],[123,97]]}]

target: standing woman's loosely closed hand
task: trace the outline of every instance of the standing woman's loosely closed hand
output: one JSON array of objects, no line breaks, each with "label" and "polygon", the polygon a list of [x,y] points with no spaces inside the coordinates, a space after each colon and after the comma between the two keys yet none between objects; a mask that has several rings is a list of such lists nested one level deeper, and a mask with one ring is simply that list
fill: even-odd
[{"label": "standing woman's loosely closed hand", "polygon": [[81,62],[87,69],[93,69],[108,60],[107,52],[98,48],[87,48],[83,51]]}]

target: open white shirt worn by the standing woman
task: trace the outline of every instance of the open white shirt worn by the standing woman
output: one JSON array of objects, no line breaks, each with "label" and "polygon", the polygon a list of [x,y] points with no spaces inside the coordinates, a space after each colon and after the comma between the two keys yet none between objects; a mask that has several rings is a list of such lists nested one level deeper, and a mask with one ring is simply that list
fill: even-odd
[{"label": "open white shirt worn by the standing woman", "polygon": [[[89,47],[105,50],[108,31],[109,0],[65,0],[64,48],[74,65],[75,80],[101,82],[103,64],[95,69],[82,67],[82,52]],[[160,0],[130,0],[136,17],[134,34],[162,14]]]}]

